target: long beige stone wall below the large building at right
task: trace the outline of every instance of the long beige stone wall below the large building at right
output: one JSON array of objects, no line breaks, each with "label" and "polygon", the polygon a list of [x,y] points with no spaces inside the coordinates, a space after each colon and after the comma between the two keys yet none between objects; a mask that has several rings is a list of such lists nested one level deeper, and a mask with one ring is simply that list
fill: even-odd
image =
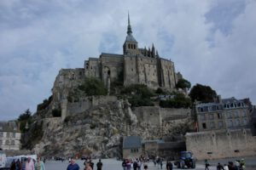
[{"label": "long beige stone wall below the large building at right", "polygon": [[186,147],[199,160],[256,154],[256,136],[250,129],[187,133]]}]

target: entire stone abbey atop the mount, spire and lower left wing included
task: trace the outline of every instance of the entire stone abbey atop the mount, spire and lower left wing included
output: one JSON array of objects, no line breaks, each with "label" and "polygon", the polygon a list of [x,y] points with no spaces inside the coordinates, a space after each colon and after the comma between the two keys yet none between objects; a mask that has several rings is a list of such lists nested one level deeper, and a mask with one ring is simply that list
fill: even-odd
[{"label": "entire stone abbey atop the mount, spire and lower left wing included", "polygon": [[99,58],[84,61],[84,68],[61,69],[55,79],[53,98],[67,99],[72,88],[84,82],[86,77],[97,77],[104,82],[108,92],[112,82],[124,86],[145,84],[148,88],[175,89],[177,80],[182,78],[175,73],[171,60],[160,58],[154,48],[138,48],[138,42],[132,36],[128,14],[127,36],[123,45],[123,54],[102,53]]}]

